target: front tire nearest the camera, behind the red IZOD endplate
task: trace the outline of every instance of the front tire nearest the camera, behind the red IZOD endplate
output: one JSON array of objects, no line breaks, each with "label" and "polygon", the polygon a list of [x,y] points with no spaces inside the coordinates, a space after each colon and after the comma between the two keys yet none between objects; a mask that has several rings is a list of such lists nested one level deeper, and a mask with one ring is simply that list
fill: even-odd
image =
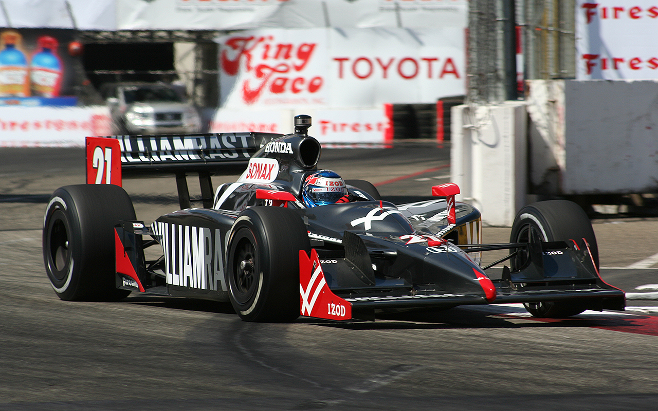
[{"label": "front tire nearest the camera, behind the red IZOD endplate", "polygon": [[240,213],[228,239],[228,294],[240,318],[290,322],[299,317],[299,250],[311,251],[301,217],[283,207]]}]

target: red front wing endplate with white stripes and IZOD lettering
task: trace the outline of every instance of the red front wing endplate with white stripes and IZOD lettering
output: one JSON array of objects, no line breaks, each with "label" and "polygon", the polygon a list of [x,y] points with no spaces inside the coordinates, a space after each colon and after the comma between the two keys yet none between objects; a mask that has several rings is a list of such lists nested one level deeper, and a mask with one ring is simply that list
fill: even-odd
[{"label": "red front wing endplate with white stripes and IZOD lettering", "polygon": [[307,317],[326,320],[350,320],[352,304],[329,289],[315,249],[311,258],[299,250],[299,310]]}]

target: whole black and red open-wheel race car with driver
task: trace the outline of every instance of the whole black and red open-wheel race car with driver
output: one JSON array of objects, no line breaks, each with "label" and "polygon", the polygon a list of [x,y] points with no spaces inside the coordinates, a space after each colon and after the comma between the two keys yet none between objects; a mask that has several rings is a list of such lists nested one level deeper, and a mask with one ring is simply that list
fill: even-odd
[{"label": "whole black and red open-wheel race car with driver", "polygon": [[[427,201],[382,201],[368,181],[318,170],[310,126],[300,115],[288,135],[88,137],[88,183],[57,189],[45,213],[43,258],[55,293],[230,301],[254,322],[507,302],[552,318],[624,310],[623,291],[599,276],[594,231],[575,203],[525,206],[509,243],[482,244],[480,212],[455,201],[457,185],[432,187]],[[236,168],[240,178],[213,192],[211,176]],[[145,224],[120,184],[159,174],[176,176],[180,210]],[[190,199],[190,174],[199,175],[201,199]],[[310,198],[335,194],[338,201]],[[159,258],[145,258],[148,247],[159,247]],[[509,254],[481,266],[481,253],[493,250]],[[492,279],[488,270],[501,264]]]}]

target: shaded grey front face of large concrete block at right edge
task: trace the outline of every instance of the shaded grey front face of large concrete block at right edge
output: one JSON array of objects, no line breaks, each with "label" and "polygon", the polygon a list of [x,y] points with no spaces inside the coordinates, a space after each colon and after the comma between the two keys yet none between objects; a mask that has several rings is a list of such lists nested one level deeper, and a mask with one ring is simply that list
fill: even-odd
[{"label": "shaded grey front face of large concrete block at right edge", "polygon": [[565,194],[658,189],[658,81],[567,81],[565,108]]}]

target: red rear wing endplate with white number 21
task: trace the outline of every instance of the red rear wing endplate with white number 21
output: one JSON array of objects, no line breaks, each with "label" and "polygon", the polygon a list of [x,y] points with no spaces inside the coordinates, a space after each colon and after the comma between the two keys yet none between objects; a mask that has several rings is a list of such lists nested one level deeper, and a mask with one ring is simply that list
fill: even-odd
[{"label": "red rear wing endplate with white number 21", "polygon": [[87,183],[121,186],[121,148],[118,139],[87,137]]}]

